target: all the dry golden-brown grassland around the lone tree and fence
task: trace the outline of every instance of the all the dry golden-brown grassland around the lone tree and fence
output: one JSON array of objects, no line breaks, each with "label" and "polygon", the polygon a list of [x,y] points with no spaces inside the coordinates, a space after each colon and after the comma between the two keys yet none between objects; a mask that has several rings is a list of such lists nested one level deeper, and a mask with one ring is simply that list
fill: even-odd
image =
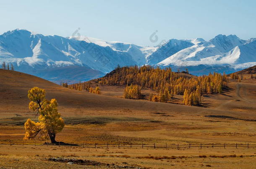
[{"label": "all the dry golden-brown grassland around the lone tree and fence", "polygon": [[[244,75],[248,76],[249,75]],[[56,98],[65,120],[57,141],[74,144],[256,144],[256,80],[230,80],[222,94],[204,95],[203,106],[121,98],[122,86],[103,86],[102,94],[74,91],[35,76],[0,69],[0,142],[24,137],[27,91],[44,88]],[[142,90],[146,95],[147,90]],[[33,141],[31,141],[33,142]],[[77,148],[0,145],[0,169],[5,168],[223,168],[253,169],[256,148]],[[235,155],[235,156],[234,156]],[[165,157],[163,157],[165,156]],[[100,165],[49,161],[50,157],[86,159]],[[161,158],[158,158],[161,157]],[[109,165],[107,165],[109,164]],[[115,164],[115,165],[112,165]],[[1,168],[2,167],[2,168]]]}]

